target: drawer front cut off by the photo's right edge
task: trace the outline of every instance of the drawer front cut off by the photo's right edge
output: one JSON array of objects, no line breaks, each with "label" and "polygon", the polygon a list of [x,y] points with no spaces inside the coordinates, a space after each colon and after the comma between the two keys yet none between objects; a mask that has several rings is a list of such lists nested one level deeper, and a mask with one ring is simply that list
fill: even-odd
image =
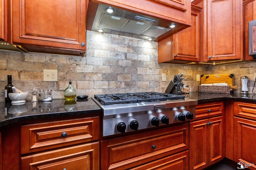
[{"label": "drawer front cut off by the photo's right edge", "polygon": [[256,120],[256,104],[234,102],[234,115]]}]

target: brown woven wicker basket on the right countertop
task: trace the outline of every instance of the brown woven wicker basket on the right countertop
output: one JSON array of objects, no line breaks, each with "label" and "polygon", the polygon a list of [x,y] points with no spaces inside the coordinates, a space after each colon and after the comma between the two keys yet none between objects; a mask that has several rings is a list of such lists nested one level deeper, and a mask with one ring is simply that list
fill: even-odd
[{"label": "brown woven wicker basket on the right countertop", "polygon": [[230,94],[230,86],[199,86],[199,93]]}]

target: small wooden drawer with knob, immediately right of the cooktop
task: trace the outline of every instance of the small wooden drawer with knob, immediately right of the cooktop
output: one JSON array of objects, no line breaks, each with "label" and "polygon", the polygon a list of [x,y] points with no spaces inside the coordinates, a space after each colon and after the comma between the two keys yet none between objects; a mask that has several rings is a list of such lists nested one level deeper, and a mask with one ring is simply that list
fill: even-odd
[{"label": "small wooden drawer with knob, immediately right of the cooktop", "polygon": [[196,106],[196,119],[222,115],[224,113],[223,102],[199,104]]}]

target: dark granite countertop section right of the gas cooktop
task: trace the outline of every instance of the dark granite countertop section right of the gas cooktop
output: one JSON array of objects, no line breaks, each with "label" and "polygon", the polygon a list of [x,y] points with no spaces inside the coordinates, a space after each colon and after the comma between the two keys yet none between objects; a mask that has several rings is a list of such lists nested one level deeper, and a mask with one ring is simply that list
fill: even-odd
[{"label": "dark granite countertop section right of the gas cooktop", "polygon": [[220,100],[239,100],[242,102],[256,102],[256,94],[215,94],[215,93],[198,93],[190,92],[189,94],[182,94],[186,98],[198,100],[198,104],[207,102],[218,102]]}]

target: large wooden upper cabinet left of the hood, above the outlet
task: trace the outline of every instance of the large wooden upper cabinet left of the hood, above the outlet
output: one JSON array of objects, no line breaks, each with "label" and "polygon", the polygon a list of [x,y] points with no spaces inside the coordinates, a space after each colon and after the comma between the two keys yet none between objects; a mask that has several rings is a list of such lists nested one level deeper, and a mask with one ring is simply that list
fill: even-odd
[{"label": "large wooden upper cabinet left of the hood, above the outlet", "polygon": [[86,0],[12,0],[12,44],[31,52],[83,56]]}]

